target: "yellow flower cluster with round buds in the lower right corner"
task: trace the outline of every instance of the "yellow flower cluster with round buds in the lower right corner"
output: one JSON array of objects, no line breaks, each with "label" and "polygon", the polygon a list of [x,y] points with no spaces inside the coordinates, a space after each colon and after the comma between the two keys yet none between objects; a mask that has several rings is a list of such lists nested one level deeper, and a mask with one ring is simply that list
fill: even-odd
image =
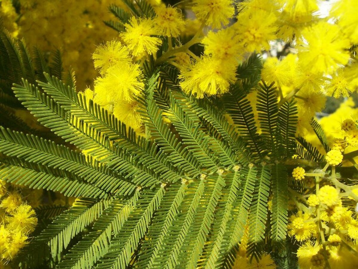
[{"label": "yellow flower cluster with round buds in the lower right corner", "polygon": [[[300,268],[324,268],[326,262],[334,269],[342,266],[356,268],[358,257],[354,252],[358,249],[358,219],[353,213],[355,204],[343,203],[343,199],[348,197],[358,202],[358,188],[340,183],[335,173],[326,174],[326,169],[327,166],[307,173],[308,178],[315,177],[316,181],[316,188],[309,185],[309,180],[303,182],[308,190],[304,196],[307,197],[304,204],[308,207],[292,198],[302,209],[291,215],[288,234],[302,242],[296,253]],[[325,182],[323,186],[321,182]],[[305,200],[301,194],[297,198]]]}]

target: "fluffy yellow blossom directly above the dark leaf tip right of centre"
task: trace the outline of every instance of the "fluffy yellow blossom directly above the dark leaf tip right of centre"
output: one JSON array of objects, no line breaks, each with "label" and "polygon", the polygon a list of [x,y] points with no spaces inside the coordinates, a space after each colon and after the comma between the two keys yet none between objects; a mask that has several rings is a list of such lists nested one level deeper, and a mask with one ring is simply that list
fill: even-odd
[{"label": "fluffy yellow blossom directly above the dark leaf tip right of centre", "polygon": [[[262,18],[265,18],[264,20]],[[243,12],[237,16],[235,27],[241,37],[241,43],[247,52],[269,49],[270,40],[276,39],[276,15],[257,10],[253,13]]]}]

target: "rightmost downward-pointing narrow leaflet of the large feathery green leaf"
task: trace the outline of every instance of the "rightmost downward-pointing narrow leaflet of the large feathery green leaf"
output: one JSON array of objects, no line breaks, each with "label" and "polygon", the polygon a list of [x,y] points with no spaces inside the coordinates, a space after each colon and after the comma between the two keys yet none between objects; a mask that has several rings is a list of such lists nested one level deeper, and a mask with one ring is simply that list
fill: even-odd
[{"label": "rightmost downward-pointing narrow leaflet of the large feathery green leaf", "polygon": [[271,169],[272,182],[272,213],[271,213],[271,239],[276,244],[286,240],[287,233],[287,171],[282,164],[276,164]]}]

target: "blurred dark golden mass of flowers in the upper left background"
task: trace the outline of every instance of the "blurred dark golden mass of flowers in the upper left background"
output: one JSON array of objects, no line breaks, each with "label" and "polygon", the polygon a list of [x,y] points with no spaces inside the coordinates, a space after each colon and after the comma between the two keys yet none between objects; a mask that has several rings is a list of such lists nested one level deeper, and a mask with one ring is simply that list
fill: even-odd
[{"label": "blurred dark golden mass of flowers in the upper left background", "polygon": [[[13,1],[0,2],[5,27],[13,25],[10,30],[14,36],[24,37],[29,48],[37,46],[46,52],[60,49],[64,67],[72,67],[77,74],[79,88],[92,84],[97,72],[91,54],[97,44],[116,36],[116,31],[103,23],[112,19],[108,6],[113,1],[21,0],[19,14]],[[124,7],[121,1],[116,4]]]}]

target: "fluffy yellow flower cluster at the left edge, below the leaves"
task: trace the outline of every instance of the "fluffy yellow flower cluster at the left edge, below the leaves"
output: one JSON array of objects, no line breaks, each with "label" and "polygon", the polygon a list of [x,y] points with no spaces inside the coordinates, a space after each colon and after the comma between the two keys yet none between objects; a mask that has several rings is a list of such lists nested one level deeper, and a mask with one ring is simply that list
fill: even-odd
[{"label": "fluffy yellow flower cluster at the left edge, below the leaves", "polygon": [[18,192],[7,192],[0,182],[0,259],[1,265],[12,260],[27,244],[28,236],[35,230],[37,218],[33,208],[23,201]]}]

